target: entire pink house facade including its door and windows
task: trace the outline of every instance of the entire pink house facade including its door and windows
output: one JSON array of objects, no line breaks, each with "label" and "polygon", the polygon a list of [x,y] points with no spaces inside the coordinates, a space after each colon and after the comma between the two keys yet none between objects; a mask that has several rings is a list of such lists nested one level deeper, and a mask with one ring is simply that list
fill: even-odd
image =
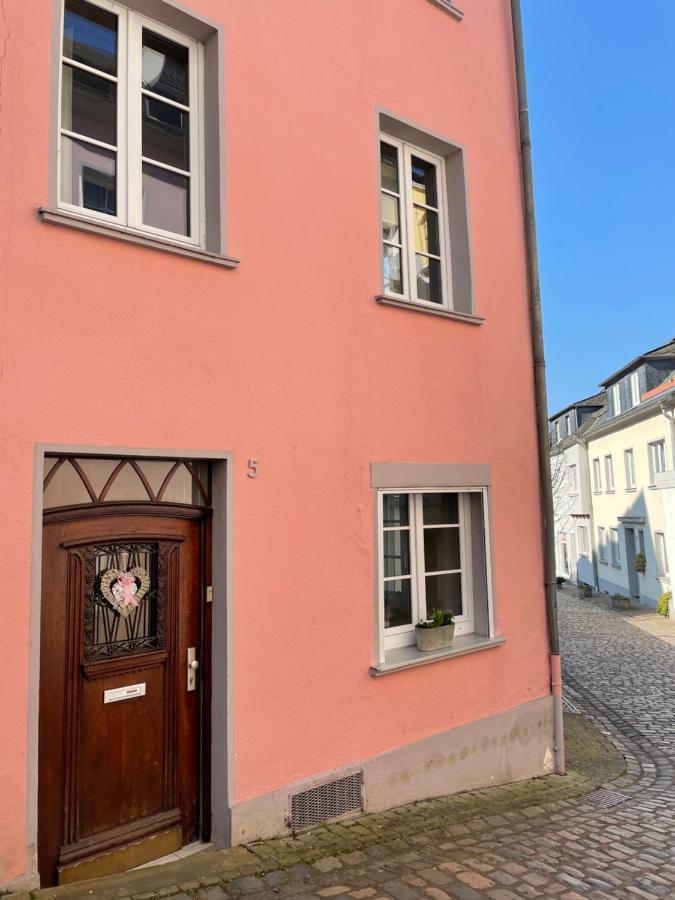
[{"label": "entire pink house facade including its door and windows", "polygon": [[0,16],[0,884],[553,770],[511,15],[469,6]]}]

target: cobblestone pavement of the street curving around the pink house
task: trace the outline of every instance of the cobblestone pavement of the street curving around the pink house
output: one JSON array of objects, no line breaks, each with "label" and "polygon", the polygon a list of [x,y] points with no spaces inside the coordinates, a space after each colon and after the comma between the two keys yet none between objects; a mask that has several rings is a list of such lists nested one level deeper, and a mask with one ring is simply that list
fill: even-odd
[{"label": "cobblestone pavement of the street curving around the pink house", "polygon": [[[606,799],[619,800],[615,805],[598,807],[579,796],[584,786],[594,786],[588,773],[552,776],[528,782],[527,789],[429,801],[327,826],[292,842],[226,851],[235,854],[228,857],[229,876],[222,862],[210,868],[208,860],[218,854],[200,854],[201,861],[192,858],[191,881],[164,880],[160,888],[148,880],[141,892],[138,880],[116,880],[110,892],[100,882],[88,892],[83,884],[33,896],[675,898],[675,646],[636,627],[630,615],[570,594],[561,595],[560,621],[567,697],[626,758],[624,769],[614,751],[614,768],[600,779],[610,777],[605,787],[613,796]],[[675,625],[668,627],[675,634]],[[589,726],[579,714],[568,721],[573,744]],[[303,840],[308,852],[297,854]],[[152,870],[144,871],[150,879]]]}]

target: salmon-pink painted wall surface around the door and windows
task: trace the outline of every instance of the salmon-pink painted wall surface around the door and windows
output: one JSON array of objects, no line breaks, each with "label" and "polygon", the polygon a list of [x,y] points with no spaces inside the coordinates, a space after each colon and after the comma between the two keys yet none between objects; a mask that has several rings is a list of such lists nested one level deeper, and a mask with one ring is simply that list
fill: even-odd
[{"label": "salmon-pink painted wall surface around the door and windows", "polygon": [[[233,451],[236,801],[549,692],[508,2],[466,6],[192,0],[224,28],[235,271],[38,220],[51,4],[0,13],[0,881],[25,869],[36,442]],[[465,147],[482,326],[374,301],[377,107]],[[492,466],[501,648],[369,676],[371,461]]]}]

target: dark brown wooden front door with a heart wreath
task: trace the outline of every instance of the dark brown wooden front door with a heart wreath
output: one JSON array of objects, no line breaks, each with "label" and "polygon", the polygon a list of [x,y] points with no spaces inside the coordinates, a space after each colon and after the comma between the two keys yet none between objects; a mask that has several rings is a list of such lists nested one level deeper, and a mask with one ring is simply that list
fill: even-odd
[{"label": "dark brown wooden front door with a heart wreath", "polygon": [[106,512],[43,530],[43,885],[121,871],[200,837],[204,525]]}]

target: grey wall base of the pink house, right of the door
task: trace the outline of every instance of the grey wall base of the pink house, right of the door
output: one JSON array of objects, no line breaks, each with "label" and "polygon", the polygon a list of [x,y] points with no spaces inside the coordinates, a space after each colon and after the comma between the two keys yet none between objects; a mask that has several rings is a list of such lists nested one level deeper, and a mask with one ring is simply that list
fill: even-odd
[{"label": "grey wall base of the pink house, right of the door", "polygon": [[292,794],[358,771],[363,772],[364,811],[381,812],[416,800],[549,775],[553,765],[549,696],[236,804],[232,843],[289,834]]}]

